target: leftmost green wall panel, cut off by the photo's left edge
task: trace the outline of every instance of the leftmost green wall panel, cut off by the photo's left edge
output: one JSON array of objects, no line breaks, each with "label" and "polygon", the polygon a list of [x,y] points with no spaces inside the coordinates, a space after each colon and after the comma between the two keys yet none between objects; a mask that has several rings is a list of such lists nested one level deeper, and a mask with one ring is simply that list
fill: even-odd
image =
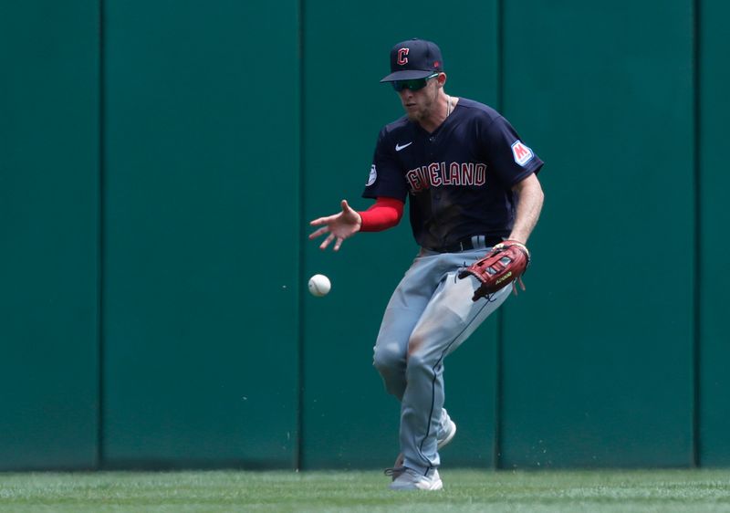
[{"label": "leftmost green wall panel, cut off by the photo's left edge", "polygon": [[0,470],[97,463],[98,16],[0,4]]}]

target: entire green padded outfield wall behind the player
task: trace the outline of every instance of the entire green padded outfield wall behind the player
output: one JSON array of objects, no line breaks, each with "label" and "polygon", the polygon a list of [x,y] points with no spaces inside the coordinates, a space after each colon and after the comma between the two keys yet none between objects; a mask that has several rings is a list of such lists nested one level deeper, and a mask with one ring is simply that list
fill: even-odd
[{"label": "entire green padded outfield wall behind the player", "polygon": [[307,235],[370,204],[409,37],[546,162],[527,292],[446,361],[443,465],[730,466],[730,6],[402,10],[0,3],[0,470],[391,465],[372,346],[417,247]]}]

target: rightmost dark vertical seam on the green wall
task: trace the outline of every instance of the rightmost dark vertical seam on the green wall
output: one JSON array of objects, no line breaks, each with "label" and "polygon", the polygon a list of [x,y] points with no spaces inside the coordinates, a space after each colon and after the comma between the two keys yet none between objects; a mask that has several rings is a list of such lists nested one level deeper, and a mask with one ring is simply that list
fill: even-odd
[{"label": "rightmost dark vertical seam on the green wall", "polygon": [[701,347],[702,347],[702,155],[700,153],[701,144],[701,126],[702,120],[702,94],[701,86],[701,2],[693,1],[694,20],[693,20],[693,110],[694,110],[694,340],[693,340],[693,408],[692,408],[692,465],[701,465],[701,436],[700,436],[700,414],[701,414],[701,389],[700,375],[702,372],[701,363]]}]

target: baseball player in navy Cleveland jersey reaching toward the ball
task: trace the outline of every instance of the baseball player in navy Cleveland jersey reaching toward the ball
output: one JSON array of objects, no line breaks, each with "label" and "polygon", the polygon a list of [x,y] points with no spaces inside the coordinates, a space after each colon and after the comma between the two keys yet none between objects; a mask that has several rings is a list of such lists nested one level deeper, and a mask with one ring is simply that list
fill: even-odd
[{"label": "baseball player in navy Cleveland jersey reaching toward the ball", "polygon": [[[446,94],[441,50],[433,42],[395,45],[391,74],[381,82],[395,89],[405,116],[378,137],[362,194],[375,203],[356,212],[343,200],[337,214],[310,223],[318,229],[309,238],[326,236],[319,247],[334,243],[337,251],[358,232],[397,225],[410,201],[421,250],[385,309],[374,366],[401,402],[401,454],[386,470],[390,487],[436,490],[443,487],[439,449],[456,433],[443,408],[444,358],[511,290],[474,293],[494,269],[483,279],[464,268],[503,245],[519,246],[528,262],[525,244],[543,204],[537,180],[543,162],[498,112]],[[505,276],[516,274],[507,269]]]}]

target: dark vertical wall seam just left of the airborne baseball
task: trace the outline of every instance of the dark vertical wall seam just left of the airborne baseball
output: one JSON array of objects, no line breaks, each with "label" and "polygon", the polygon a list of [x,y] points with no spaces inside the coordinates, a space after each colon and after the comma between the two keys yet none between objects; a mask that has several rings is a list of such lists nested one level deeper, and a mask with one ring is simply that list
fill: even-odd
[{"label": "dark vertical wall seam just left of the airborne baseball", "polygon": [[297,12],[297,51],[299,53],[299,95],[297,98],[299,107],[298,132],[299,140],[299,212],[297,221],[299,225],[299,262],[297,269],[297,434],[295,436],[294,450],[294,468],[299,470],[304,460],[304,288],[300,285],[304,283],[304,265],[305,265],[305,241],[306,233],[304,229],[305,219],[305,148],[304,148],[304,2],[298,1]]}]

